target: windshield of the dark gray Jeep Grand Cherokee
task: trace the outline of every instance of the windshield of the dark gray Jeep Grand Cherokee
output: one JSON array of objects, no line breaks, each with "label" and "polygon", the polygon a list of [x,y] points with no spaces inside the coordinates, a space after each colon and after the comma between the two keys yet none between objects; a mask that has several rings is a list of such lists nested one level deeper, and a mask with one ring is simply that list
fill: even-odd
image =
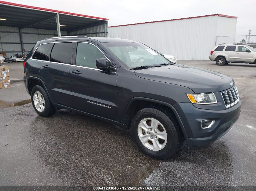
[{"label": "windshield of the dark gray Jeep Grand Cherokee", "polygon": [[142,43],[109,42],[102,44],[128,69],[164,63],[171,64],[165,57]]}]

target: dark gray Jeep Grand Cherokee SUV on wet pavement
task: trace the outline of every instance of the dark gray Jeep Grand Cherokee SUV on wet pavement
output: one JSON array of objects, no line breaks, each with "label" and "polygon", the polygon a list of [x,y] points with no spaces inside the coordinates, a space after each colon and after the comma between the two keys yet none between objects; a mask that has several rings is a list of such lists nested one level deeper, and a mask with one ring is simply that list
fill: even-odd
[{"label": "dark gray Jeep Grand Cherokee SUV on wet pavement", "polygon": [[23,65],[38,115],[65,108],[131,128],[138,148],[153,158],[170,158],[184,140],[188,147],[214,142],[240,114],[232,78],[173,64],[131,40],[48,38]]}]

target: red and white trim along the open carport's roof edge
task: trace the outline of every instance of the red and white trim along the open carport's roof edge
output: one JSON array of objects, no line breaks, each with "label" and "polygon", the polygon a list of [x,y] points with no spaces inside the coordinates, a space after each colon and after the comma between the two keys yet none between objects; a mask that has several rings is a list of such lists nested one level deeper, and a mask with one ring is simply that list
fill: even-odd
[{"label": "red and white trim along the open carport's roof edge", "polygon": [[55,12],[55,13],[60,13],[60,14],[68,14],[68,15],[74,15],[74,16],[79,16],[79,17],[94,18],[94,19],[108,21],[107,18],[94,17],[94,16],[89,16],[89,15],[84,15],[84,14],[76,14],[76,13],[58,11],[58,10],[53,10],[53,9],[41,8],[41,7],[34,7],[34,6],[29,6],[29,5],[22,5],[22,4],[17,4],[17,3],[5,2],[5,1],[0,1],[0,4],[11,5],[11,6],[16,6],[16,7],[23,7],[23,8],[30,8],[30,9],[37,9],[37,10],[41,10],[41,11]]}]

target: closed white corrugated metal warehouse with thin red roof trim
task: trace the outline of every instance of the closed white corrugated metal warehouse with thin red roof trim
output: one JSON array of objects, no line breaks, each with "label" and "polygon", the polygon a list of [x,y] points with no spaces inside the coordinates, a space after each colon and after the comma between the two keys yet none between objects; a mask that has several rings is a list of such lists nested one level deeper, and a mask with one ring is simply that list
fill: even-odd
[{"label": "closed white corrugated metal warehouse with thin red roof trim", "polygon": [[[237,17],[212,14],[198,17],[125,24],[108,28],[109,37],[135,40],[177,59],[208,60],[217,36],[234,36]],[[229,39],[234,43],[234,39]]]}]

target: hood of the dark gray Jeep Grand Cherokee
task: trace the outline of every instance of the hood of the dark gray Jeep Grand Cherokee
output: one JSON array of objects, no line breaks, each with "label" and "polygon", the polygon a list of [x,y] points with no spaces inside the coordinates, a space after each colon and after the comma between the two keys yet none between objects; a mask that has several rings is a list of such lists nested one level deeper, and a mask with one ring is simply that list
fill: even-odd
[{"label": "hood of the dark gray Jeep Grand Cherokee", "polygon": [[136,70],[135,74],[148,80],[185,86],[195,93],[224,91],[234,83],[227,75],[181,64]]}]

